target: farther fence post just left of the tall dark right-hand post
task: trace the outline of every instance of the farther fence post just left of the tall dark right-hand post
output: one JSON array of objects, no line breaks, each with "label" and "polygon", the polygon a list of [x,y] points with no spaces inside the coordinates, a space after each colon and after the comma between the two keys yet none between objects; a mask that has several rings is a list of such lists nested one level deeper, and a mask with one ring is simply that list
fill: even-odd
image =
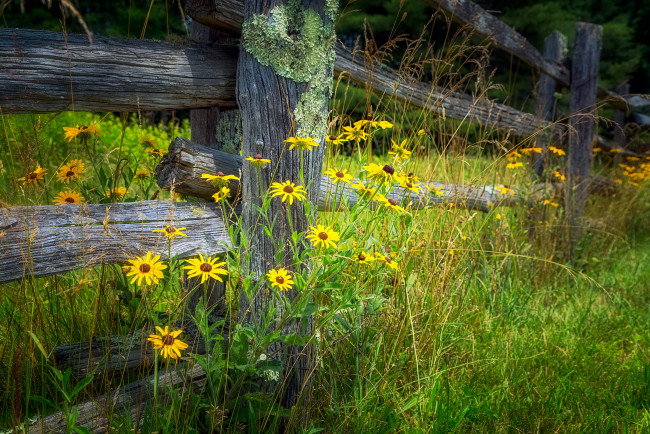
[{"label": "farther fence post just left of the tall dark right-hand post", "polygon": [[[544,39],[544,58],[549,62],[561,65],[567,54],[567,39],[559,31],[554,31]],[[555,120],[555,90],[557,83],[555,79],[542,73],[539,77],[539,94],[537,96],[537,117],[543,121],[553,122]],[[552,131],[545,131],[537,140],[542,153],[533,152],[533,170],[538,177],[544,172],[544,157],[548,152],[549,141],[554,139]]]}]

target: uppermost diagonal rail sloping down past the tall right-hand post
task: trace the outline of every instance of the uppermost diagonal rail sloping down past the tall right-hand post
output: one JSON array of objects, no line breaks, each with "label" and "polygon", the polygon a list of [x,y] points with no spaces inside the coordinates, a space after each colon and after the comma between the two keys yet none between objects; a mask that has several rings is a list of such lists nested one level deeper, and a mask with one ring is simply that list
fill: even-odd
[{"label": "uppermost diagonal rail sloping down past the tall right-hand post", "polygon": [[[528,40],[514,28],[492,15],[478,4],[469,0],[424,0],[439,8],[453,21],[471,27],[478,35],[488,38],[494,45],[523,60],[533,68],[553,77],[562,86],[571,81],[569,69],[557,62],[544,58]],[[598,98],[619,110],[636,110],[650,105],[640,97],[623,97],[615,92],[598,87]]]}]

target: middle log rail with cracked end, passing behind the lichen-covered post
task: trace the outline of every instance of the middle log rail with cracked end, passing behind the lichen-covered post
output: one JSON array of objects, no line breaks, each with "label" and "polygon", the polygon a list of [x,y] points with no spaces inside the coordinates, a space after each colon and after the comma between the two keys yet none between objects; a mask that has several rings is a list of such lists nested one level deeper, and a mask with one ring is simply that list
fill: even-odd
[{"label": "middle log rail with cracked end, passing behind the lichen-covered post", "polygon": [[[156,176],[160,188],[169,190],[173,185],[174,191],[188,196],[209,199],[217,192],[217,189],[211,183],[201,179],[201,175],[203,173],[214,175],[220,171],[225,175],[239,176],[241,166],[242,157],[240,156],[216,151],[193,143],[184,137],[177,137],[169,146],[169,152],[156,168]],[[263,170],[274,171],[275,168],[271,164]],[[355,182],[361,181],[355,180]],[[321,177],[320,184],[319,211],[336,211],[342,206],[351,208],[359,201],[359,196],[347,184],[339,185],[337,188],[332,180],[325,175]],[[440,187],[439,193],[430,193],[425,188],[427,184],[431,189]],[[238,189],[236,182],[231,183],[230,187]],[[423,183],[419,194],[395,187],[388,197],[399,200],[410,209],[453,204],[461,208],[484,212],[488,212],[493,206],[512,206],[520,202],[519,195],[500,194],[496,186],[454,185],[442,182]]]}]

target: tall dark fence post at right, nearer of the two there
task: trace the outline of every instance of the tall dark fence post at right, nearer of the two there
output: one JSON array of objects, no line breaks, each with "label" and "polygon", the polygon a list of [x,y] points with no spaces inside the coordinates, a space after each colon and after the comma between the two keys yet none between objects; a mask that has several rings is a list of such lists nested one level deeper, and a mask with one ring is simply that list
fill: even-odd
[{"label": "tall dark fence post at right, nearer of the two there", "polygon": [[571,66],[571,118],[569,119],[569,158],[565,194],[571,254],[580,236],[580,219],[587,200],[603,30],[596,24],[576,23],[575,33]]}]

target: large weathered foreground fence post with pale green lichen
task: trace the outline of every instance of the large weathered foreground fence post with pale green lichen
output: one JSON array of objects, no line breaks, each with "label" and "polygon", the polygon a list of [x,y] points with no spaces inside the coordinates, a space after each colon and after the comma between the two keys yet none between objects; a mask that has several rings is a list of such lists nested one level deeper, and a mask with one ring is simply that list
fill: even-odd
[{"label": "large weathered foreground fence post with pale green lichen", "polygon": [[[285,308],[279,297],[289,301],[300,297],[295,289],[282,291],[278,297],[267,291],[265,274],[269,269],[286,267],[298,272],[309,267],[307,260],[294,264],[290,249],[293,230],[309,229],[314,217],[323,164],[323,140],[327,123],[327,105],[334,67],[334,18],[337,3],[332,0],[244,0],[242,48],[237,68],[237,100],[242,117],[242,154],[261,154],[270,159],[269,168],[258,177],[257,170],[245,163],[242,170],[242,238],[248,242],[242,253],[243,273],[259,282],[252,298],[242,291],[239,319],[243,324],[262,326],[264,316],[276,308],[279,319]],[[290,136],[314,137],[321,143],[311,151],[289,150],[284,140]],[[301,155],[302,152],[302,155]],[[304,168],[300,179],[301,167]],[[272,178],[272,176],[274,176]],[[270,200],[266,211],[269,221],[275,221],[271,239],[259,227],[265,221],[257,207],[271,182],[292,181],[307,188],[307,200],[312,213],[305,214],[305,203],[294,201],[287,206],[280,198]],[[276,262],[278,251],[274,243],[281,241],[282,259]],[[298,250],[302,248],[298,246]],[[277,321],[271,324],[271,330]],[[267,330],[267,331],[271,331]],[[282,333],[310,335],[313,317],[285,321]],[[307,397],[309,376],[314,364],[314,348],[272,344],[267,354],[282,360],[282,373],[276,392],[285,407]]]}]

